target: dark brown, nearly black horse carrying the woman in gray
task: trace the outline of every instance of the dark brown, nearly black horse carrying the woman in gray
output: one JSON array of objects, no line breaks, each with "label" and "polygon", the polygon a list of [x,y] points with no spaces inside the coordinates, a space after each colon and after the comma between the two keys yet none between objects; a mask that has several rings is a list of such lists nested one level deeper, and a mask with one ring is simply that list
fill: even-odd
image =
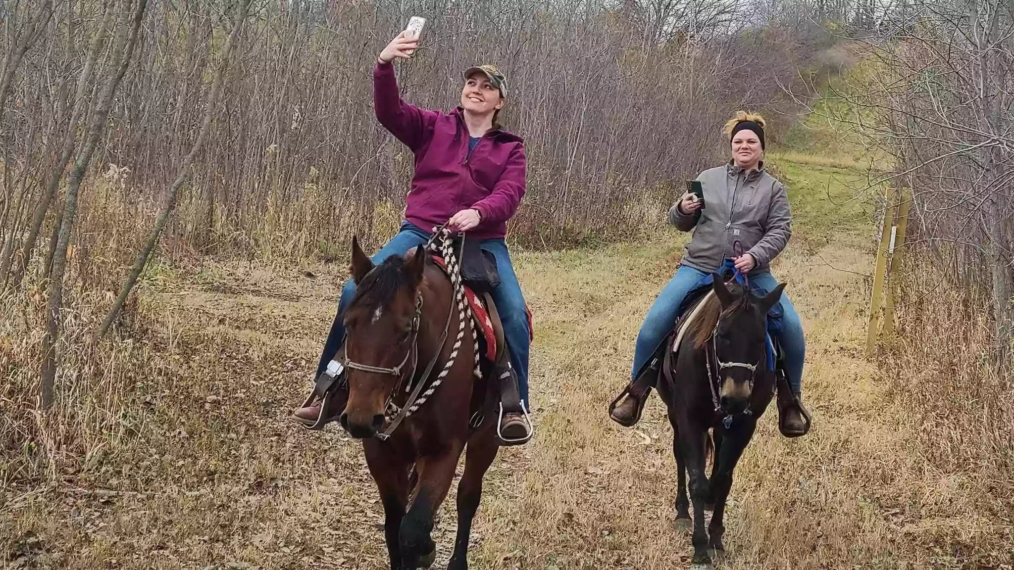
[{"label": "dark brown, nearly black horse carrying the woman in gray", "polygon": [[[701,301],[704,304],[687,326],[674,360],[671,346],[666,348],[664,379],[658,383],[674,432],[677,526],[691,521],[686,499],[690,474],[695,567],[707,567],[712,555],[725,553],[722,523],[732,471],[774,394],[775,373],[768,369],[766,315],[785,288],[782,283],[757,297],[736,282],[726,284],[717,274],[712,278],[715,294]],[[709,480],[705,461],[711,448],[715,460]],[[706,532],[704,511],[708,507],[714,513]]]}]

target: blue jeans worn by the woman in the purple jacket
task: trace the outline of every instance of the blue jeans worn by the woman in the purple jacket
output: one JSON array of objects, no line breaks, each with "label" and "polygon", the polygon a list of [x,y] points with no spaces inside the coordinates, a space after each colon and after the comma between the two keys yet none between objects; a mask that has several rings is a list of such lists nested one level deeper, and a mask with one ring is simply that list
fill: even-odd
[{"label": "blue jeans worn by the woman in the purple jacket", "polygon": [[[374,264],[383,263],[391,256],[405,255],[411,247],[426,243],[430,234],[422,228],[409,222],[402,222],[402,228],[380,248],[373,258]],[[510,351],[510,363],[514,371],[517,372],[518,390],[525,408],[530,408],[528,402],[528,316],[525,313],[524,296],[521,295],[521,285],[514,274],[514,267],[510,262],[510,254],[507,251],[507,243],[502,238],[486,239],[480,242],[480,248],[491,254],[497,261],[497,272],[500,274],[500,285],[493,290],[491,296],[497,305],[500,313],[500,320],[504,326],[504,340]],[[338,303],[338,312],[335,320],[331,325],[331,332],[328,334],[328,341],[324,343],[323,351],[320,353],[320,361],[317,363],[317,370],[314,378],[323,372],[328,362],[335,357],[338,349],[345,342],[345,324],[339,318],[339,314],[345,310],[346,305],[352,301],[356,292],[356,283],[349,279],[342,289],[342,298]]]}]

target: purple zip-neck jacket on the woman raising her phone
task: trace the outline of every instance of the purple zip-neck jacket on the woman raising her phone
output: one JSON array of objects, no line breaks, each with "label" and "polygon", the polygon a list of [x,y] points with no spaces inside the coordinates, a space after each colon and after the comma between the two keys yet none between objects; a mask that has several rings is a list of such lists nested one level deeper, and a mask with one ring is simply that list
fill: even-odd
[{"label": "purple zip-neck jacket on the woman raising her phone", "polygon": [[507,234],[507,220],[525,191],[524,144],[500,129],[483,135],[468,156],[468,129],[462,109],[450,113],[419,109],[402,100],[394,66],[373,69],[373,109],[385,129],[416,156],[405,219],[432,231],[460,210],[479,210],[482,221],[469,237]]}]

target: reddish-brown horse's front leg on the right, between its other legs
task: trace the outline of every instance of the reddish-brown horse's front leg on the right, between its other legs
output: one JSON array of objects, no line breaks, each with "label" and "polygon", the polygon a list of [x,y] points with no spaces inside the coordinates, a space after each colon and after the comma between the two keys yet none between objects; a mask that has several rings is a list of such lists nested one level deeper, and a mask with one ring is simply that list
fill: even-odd
[{"label": "reddish-brown horse's front leg on the right, between its other legs", "polygon": [[419,483],[399,533],[404,570],[429,568],[436,559],[436,544],[430,538],[433,515],[447,497],[462,447],[463,443],[454,442],[440,453],[423,455],[416,460]]}]

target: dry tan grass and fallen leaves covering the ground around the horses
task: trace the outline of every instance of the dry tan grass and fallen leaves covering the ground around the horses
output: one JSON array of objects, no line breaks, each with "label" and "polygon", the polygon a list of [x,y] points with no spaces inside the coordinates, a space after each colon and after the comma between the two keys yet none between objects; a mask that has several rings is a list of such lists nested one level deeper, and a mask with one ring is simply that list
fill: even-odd
[{"label": "dry tan grass and fallen leaves covering the ground around the horses", "polygon": [[[822,245],[801,235],[808,246],[794,241],[774,268],[807,332],[815,426],[787,440],[774,409],[762,419],[733,484],[725,567],[1009,568],[1010,511],[991,494],[1003,487],[976,479],[974,456],[942,469],[936,446],[952,440],[927,430],[903,390],[888,393],[898,381],[862,358],[868,283],[857,274],[872,259],[867,227],[842,221],[854,214]],[[683,238],[515,254],[535,313],[538,431],[487,476],[475,568],[689,566],[690,537],[671,526],[675,466],[660,402],[637,429],[605,413]],[[4,301],[4,567],[383,568],[382,509],[359,445],[286,418],[307,387],[342,266],[309,267],[316,277],[248,263],[156,267],[130,313],[142,324],[134,340],[88,349],[79,339],[101,303],[78,299],[49,416],[31,401],[38,299]],[[445,508],[444,561],[452,532]]]}]

